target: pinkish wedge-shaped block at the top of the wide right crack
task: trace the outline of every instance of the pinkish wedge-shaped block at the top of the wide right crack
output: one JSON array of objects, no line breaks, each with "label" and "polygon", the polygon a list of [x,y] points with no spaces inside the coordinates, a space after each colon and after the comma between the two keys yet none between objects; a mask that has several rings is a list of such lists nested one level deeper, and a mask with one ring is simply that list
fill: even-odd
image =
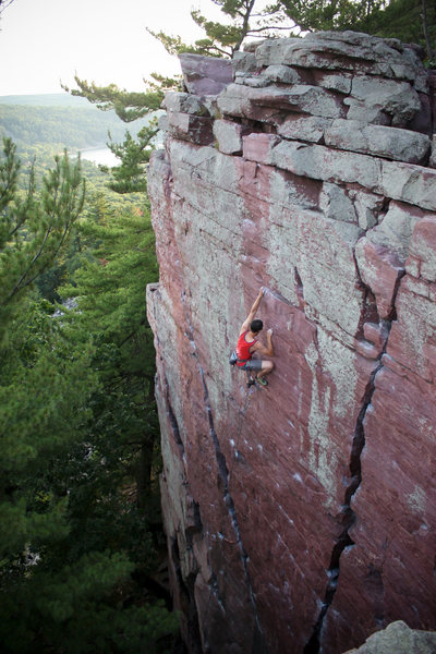
[{"label": "pinkish wedge-shaped block at the top of the wide right crack", "polygon": [[365,237],[356,243],[355,258],[363,282],[375,295],[379,317],[387,319],[393,308],[398,280],[404,267],[393,252],[375,245]]}]

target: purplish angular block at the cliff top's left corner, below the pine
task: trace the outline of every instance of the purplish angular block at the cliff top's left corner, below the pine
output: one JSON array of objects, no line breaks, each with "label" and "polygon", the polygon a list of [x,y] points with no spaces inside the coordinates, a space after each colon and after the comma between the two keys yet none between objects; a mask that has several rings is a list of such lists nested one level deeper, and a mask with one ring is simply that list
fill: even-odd
[{"label": "purplish angular block at the cliff top's left corner, below the pine", "polygon": [[217,95],[233,80],[231,62],[227,59],[183,52],[179,61],[189,93]]}]

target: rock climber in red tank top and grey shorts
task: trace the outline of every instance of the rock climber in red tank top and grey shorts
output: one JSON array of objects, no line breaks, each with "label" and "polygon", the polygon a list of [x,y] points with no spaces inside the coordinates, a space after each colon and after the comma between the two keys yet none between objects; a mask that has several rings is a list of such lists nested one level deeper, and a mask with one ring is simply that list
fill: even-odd
[{"label": "rock climber in red tank top and grey shorts", "polygon": [[[247,371],[251,375],[249,386],[255,382],[258,382],[258,384],[262,386],[268,386],[265,375],[268,375],[274,368],[272,361],[252,359],[255,352],[264,354],[265,356],[274,356],[272,329],[268,329],[266,332],[267,346],[265,347],[261,341],[257,340],[258,335],[264,328],[264,323],[259,319],[254,319],[254,316],[256,315],[261,304],[261,300],[264,296],[264,288],[262,287],[247,317],[242,323],[237,343],[237,366],[243,371]],[[253,373],[255,373],[254,378]]]}]

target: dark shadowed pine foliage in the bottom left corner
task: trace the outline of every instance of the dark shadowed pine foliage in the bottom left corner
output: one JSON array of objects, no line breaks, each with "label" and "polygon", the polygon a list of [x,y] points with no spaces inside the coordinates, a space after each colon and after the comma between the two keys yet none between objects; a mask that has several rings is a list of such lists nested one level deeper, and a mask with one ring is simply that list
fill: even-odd
[{"label": "dark shadowed pine foliage in the bottom left corner", "polygon": [[1,597],[3,651],[11,654],[167,651],[166,637],[177,629],[177,617],[168,614],[160,603],[123,606],[126,594],[123,584],[132,570],[133,565],[124,555],[110,552],[84,555],[51,576],[36,566],[27,583],[19,584]]}]

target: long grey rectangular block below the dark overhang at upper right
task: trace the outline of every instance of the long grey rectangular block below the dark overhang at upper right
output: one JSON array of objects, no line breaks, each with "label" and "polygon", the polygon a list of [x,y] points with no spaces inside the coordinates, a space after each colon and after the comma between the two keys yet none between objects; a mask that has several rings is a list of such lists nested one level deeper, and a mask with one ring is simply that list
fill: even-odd
[{"label": "long grey rectangular block below the dark overhang at upper right", "polygon": [[325,142],[340,149],[411,164],[426,160],[431,145],[425,134],[343,119],[335,120],[326,130]]}]

